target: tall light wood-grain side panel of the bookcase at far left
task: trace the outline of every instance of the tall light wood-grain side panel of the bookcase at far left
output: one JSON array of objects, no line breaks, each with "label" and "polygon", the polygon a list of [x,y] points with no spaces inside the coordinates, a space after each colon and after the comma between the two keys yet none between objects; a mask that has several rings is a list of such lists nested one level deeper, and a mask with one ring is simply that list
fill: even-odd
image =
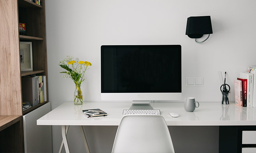
[{"label": "tall light wood-grain side panel of the bookcase at far left", "polygon": [[0,10],[0,115],[22,115],[17,0],[1,0]]}]

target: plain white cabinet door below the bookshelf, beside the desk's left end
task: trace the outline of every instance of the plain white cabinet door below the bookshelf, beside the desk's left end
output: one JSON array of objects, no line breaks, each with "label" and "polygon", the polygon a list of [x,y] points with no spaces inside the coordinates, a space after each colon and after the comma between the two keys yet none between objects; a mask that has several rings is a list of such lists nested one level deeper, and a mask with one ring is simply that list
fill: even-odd
[{"label": "plain white cabinet door below the bookshelf, beside the desk's left end", "polygon": [[25,153],[52,152],[52,126],[37,125],[37,120],[50,111],[48,102],[23,116]]}]

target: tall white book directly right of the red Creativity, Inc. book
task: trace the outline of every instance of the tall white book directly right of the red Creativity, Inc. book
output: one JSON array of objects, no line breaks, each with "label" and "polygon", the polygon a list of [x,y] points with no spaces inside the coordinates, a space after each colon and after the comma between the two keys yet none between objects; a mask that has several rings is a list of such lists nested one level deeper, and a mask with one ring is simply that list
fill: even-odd
[{"label": "tall white book directly right of the red Creativity, Inc. book", "polygon": [[247,79],[247,107],[253,107],[254,74],[248,72],[240,72],[240,78]]}]

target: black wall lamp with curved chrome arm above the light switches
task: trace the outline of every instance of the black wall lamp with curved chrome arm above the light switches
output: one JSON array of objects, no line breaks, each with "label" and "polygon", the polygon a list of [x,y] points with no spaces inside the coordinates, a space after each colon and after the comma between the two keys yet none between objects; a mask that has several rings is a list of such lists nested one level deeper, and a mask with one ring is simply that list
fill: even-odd
[{"label": "black wall lamp with curved chrome arm above the light switches", "polygon": [[[201,38],[204,34],[209,34],[208,37],[198,42],[196,38]],[[200,44],[206,41],[212,34],[211,16],[191,16],[187,18],[186,35],[189,38],[195,38],[196,43]]]}]

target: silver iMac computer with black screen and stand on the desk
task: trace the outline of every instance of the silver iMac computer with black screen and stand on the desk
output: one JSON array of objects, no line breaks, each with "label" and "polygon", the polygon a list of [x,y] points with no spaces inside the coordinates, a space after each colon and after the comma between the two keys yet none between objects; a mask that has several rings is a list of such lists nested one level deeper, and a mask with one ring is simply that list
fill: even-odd
[{"label": "silver iMac computer with black screen and stand on the desk", "polygon": [[181,46],[101,46],[101,99],[132,101],[130,109],[152,109],[150,101],[180,100]]}]

